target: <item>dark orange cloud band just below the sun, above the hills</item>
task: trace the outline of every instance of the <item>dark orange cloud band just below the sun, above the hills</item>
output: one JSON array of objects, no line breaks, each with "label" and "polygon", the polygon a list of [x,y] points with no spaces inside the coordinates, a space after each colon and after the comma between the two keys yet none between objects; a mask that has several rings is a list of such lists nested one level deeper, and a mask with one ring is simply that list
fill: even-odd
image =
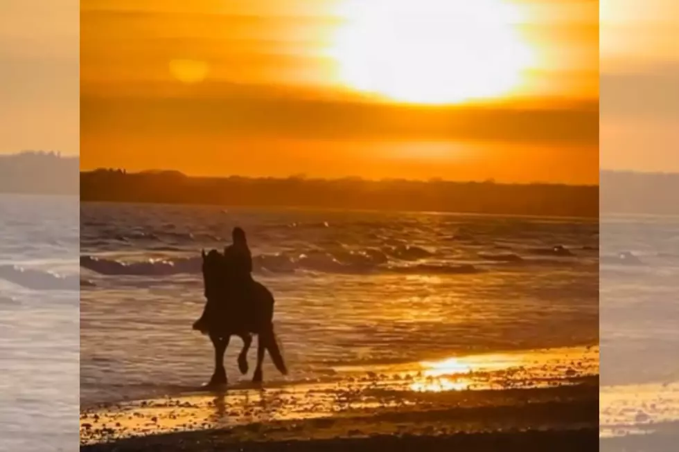
[{"label": "dark orange cloud band just below the sun, above the hills", "polygon": [[103,89],[98,96],[85,94],[82,133],[561,145],[596,145],[599,139],[596,102],[524,109],[434,108],[315,96],[281,87],[206,84],[192,90],[173,97],[144,95],[143,88],[133,96],[106,96]]}]

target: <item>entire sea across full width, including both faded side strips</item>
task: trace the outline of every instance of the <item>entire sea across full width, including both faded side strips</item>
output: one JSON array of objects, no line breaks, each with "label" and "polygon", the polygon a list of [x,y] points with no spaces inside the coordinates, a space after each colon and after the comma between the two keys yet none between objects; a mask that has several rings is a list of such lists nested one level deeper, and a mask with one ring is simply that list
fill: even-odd
[{"label": "entire sea across full width, including both faded side strips", "polygon": [[[276,298],[290,374],[267,361],[267,383],[592,345],[600,329],[602,435],[676,431],[679,217],[599,225],[0,195],[0,451],[71,450],[79,404],[206,382],[211,344],[191,329],[204,306],[200,251],[227,245],[233,226]],[[234,385],[250,378],[239,349],[234,338]]]}]

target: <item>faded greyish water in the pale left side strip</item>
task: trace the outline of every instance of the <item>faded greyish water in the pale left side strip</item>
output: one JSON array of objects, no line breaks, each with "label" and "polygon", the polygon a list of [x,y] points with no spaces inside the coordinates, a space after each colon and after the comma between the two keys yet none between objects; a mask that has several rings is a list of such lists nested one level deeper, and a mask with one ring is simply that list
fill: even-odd
[{"label": "faded greyish water in the pale left side strip", "polygon": [[78,204],[0,194],[0,451],[78,444]]}]

